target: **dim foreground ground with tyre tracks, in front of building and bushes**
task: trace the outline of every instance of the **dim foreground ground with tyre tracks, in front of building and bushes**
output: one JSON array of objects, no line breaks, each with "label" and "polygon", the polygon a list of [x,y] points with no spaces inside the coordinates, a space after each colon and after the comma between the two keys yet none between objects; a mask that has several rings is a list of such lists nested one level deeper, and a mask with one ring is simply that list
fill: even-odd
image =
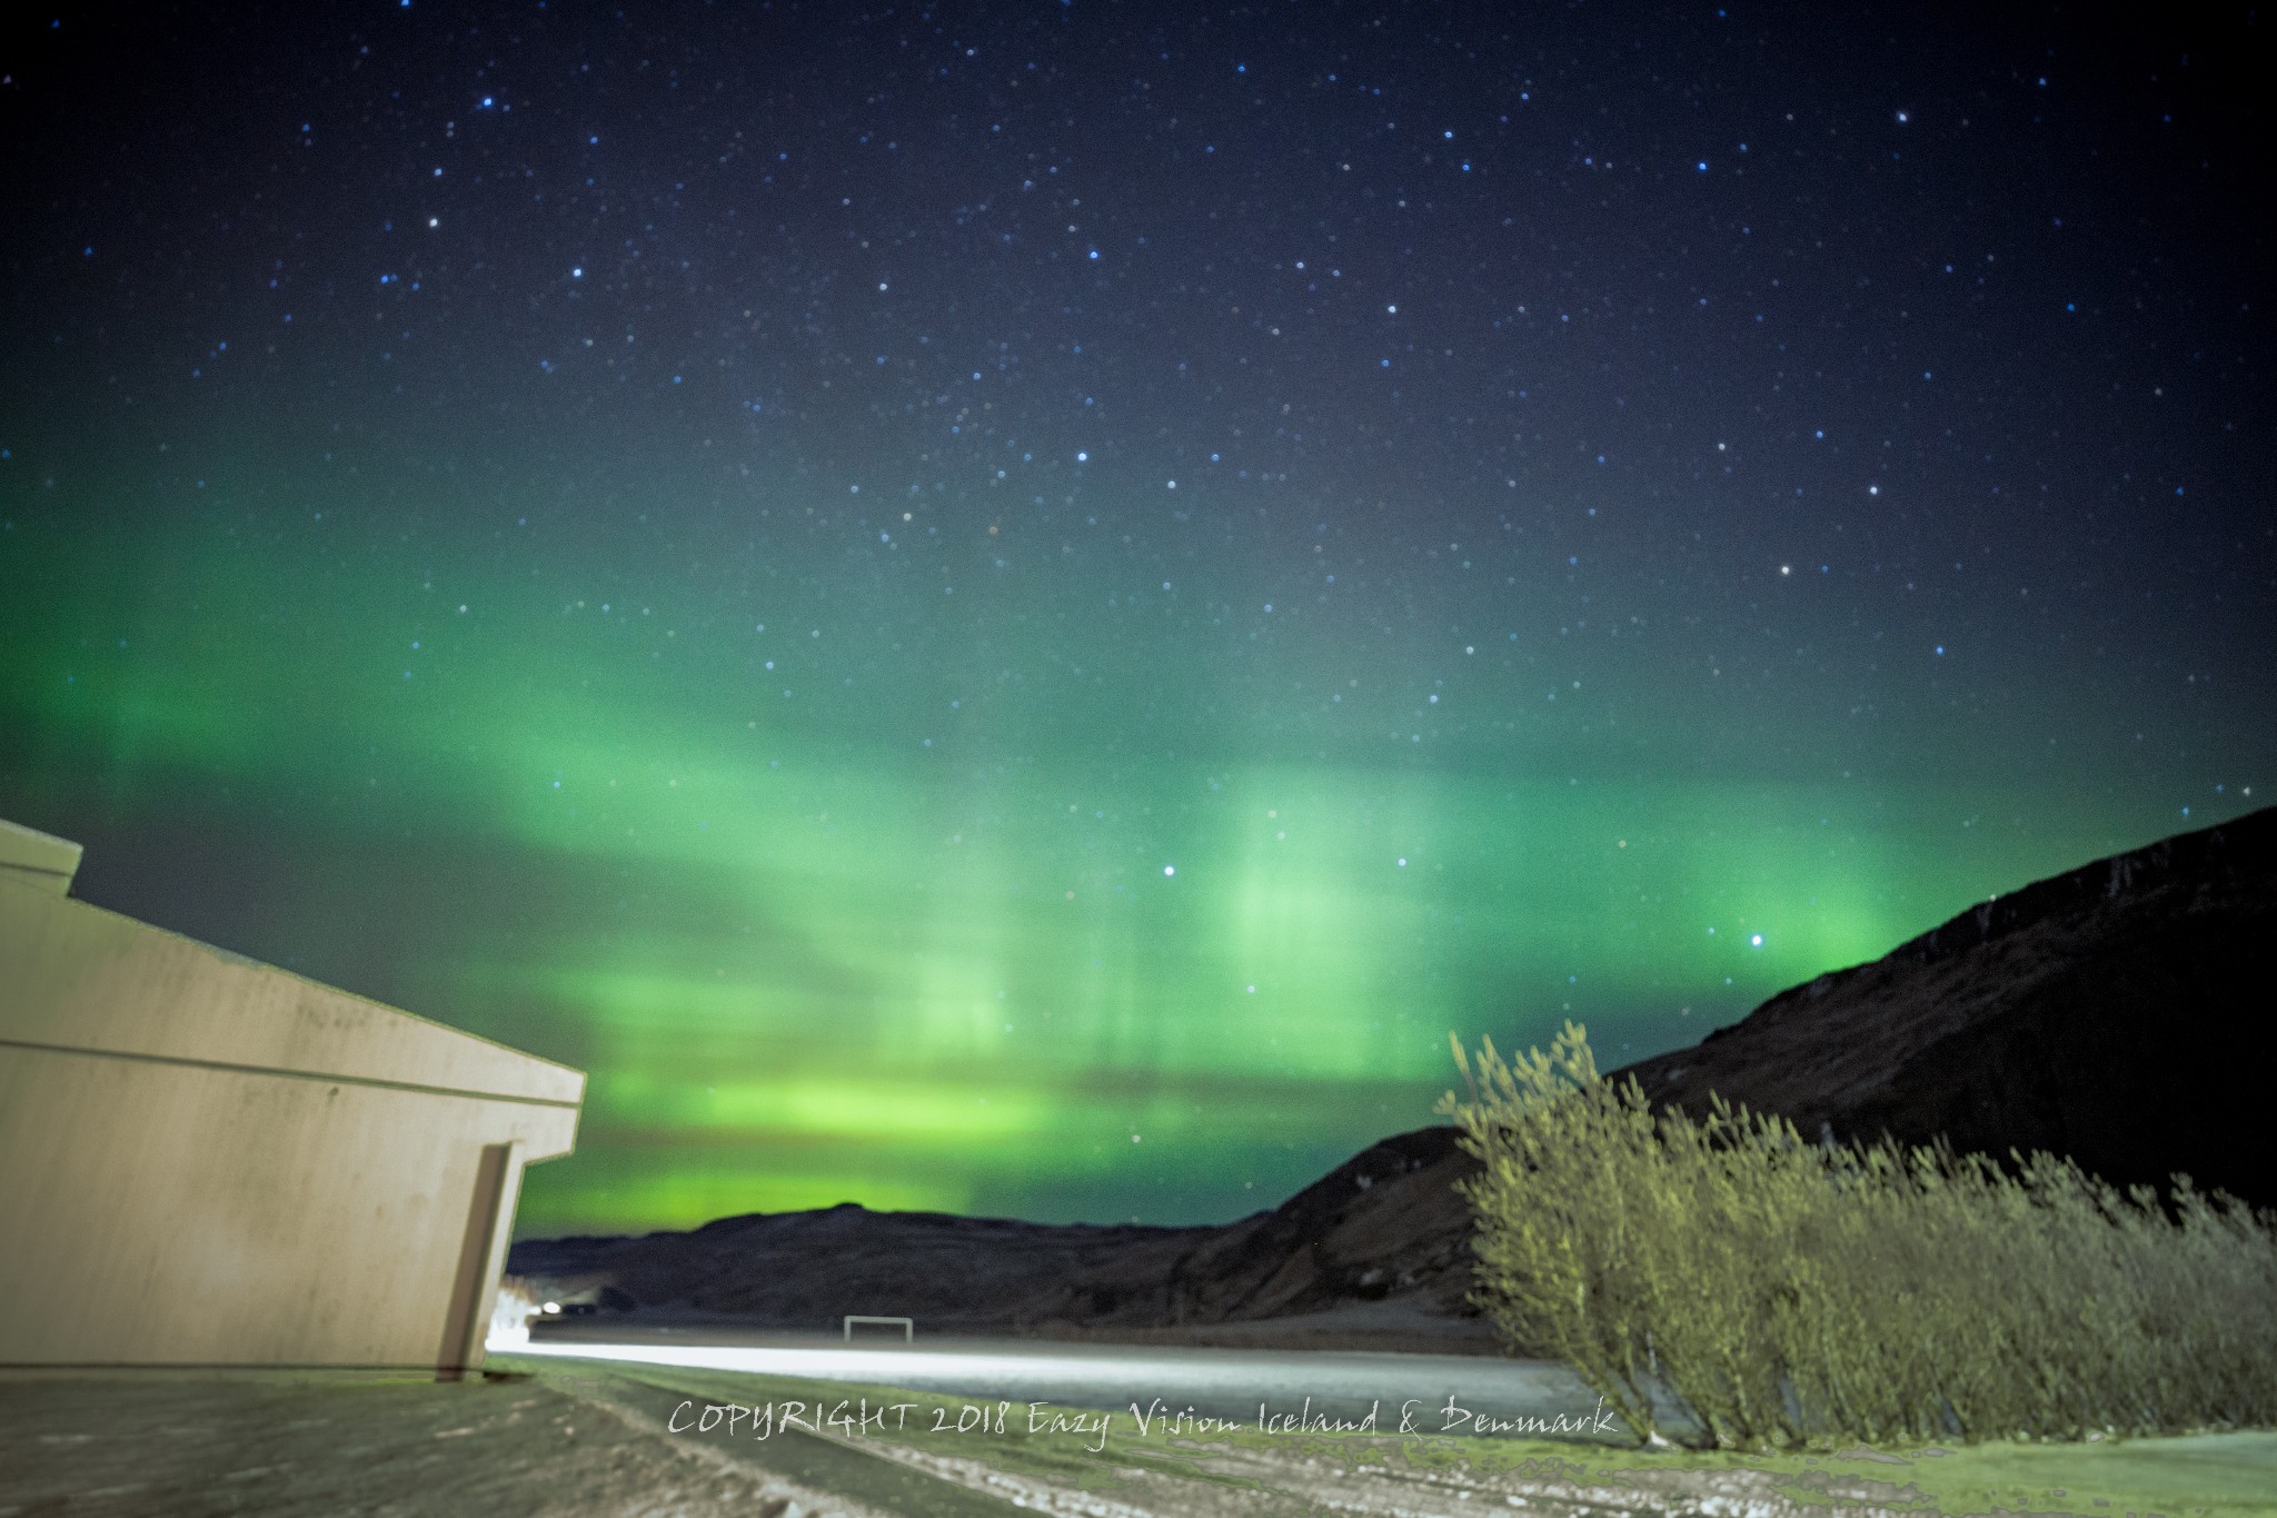
[{"label": "dim foreground ground with tyre tracks, in front of building and bushes", "polygon": [[[1523,1511],[2277,1518],[2277,1434],[1956,1452],[1687,1457],[1539,1441],[1029,1434],[920,1393],[902,1429],[672,1432],[710,1404],[845,1393],[699,1370],[496,1361],[469,1384],[342,1372],[0,1372],[0,1518],[1435,1518]],[[872,1406],[877,1397],[872,1397]],[[808,1402],[813,1406],[813,1402]],[[936,1413],[938,1409],[938,1413]],[[1002,1418],[1004,1434],[968,1427]],[[943,1432],[924,1432],[938,1420]]]}]

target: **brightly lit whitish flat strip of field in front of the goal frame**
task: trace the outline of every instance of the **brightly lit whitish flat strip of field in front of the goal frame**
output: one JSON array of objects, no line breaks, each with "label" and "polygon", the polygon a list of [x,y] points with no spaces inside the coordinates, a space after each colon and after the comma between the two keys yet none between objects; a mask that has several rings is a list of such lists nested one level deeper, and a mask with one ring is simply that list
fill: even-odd
[{"label": "brightly lit whitish flat strip of field in front of the goal frame", "polygon": [[[669,1340],[601,1343],[537,1338],[496,1343],[512,1354],[688,1366],[804,1377],[849,1386],[897,1386],[984,1402],[1161,1411],[1227,1418],[1246,1427],[1318,1427],[1375,1411],[1382,1434],[1589,1436],[1630,1443],[1578,1375],[1551,1361],[1469,1354],[1357,1354],[1289,1350],[1189,1350],[1159,1345],[1038,1345],[1034,1340],[938,1338],[868,1347],[829,1340],[749,1343],[733,1331],[674,1329]],[[742,1338],[745,1343],[735,1343]],[[1018,1416],[1018,1413],[1016,1413]],[[1405,1425],[1403,1425],[1405,1420]],[[1537,1420],[1537,1422],[1523,1422]],[[1680,1422],[1662,1416],[1662,1422]]]}]

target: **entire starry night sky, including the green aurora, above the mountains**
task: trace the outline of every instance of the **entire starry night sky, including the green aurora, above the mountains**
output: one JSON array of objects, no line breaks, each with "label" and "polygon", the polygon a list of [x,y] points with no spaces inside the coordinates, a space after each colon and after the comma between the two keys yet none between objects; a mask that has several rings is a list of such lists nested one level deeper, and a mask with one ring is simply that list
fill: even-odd
[{"label": "entire starry night sky, including the green aurora, above the mountains", "polygon": [[524,1236],[1236,1218],[2277,783],[2250,7],[5,25],[0,815],[587,1070]]}]

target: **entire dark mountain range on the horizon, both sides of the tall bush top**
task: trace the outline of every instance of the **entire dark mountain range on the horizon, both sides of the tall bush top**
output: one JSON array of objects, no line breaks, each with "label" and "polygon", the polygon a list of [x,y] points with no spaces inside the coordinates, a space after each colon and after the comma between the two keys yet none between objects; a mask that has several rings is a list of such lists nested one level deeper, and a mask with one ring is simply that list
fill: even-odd
[{"label": "entire dark mountain range on the horizon, both sides of the tall bush top", "polygon": [[[1806,1136],[2052,1149],[2118,1183],[2188,1172],[2277,1206],[2252,1026],[2277,1004],[2277,808],[1983,901],[1785,990],[1701,1045],[1610,1072]],[[2188,1058],[2190,1040],[2216,1058]],[[2227,1058],[2225,1058],[2227,1056]],[[726,1218],[692,1234],[515,1245],[510,1270],[642,1309],[833,1327],[1491,1350],[1469,1290],[1473,1161],[1398,1133],[1271,1213],[1193,1229],[940,1213]]]}]

